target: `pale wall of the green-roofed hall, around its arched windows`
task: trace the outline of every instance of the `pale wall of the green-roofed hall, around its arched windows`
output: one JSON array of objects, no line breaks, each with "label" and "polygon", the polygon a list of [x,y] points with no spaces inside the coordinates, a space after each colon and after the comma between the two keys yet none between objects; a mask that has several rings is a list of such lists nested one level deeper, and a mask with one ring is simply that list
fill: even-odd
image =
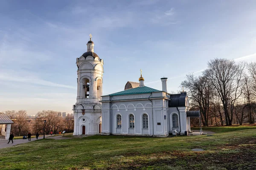
[{"label": "pale wall of the green-roofed hall, around its arched windows", "polygon": [[[162,93],[154,95],[163,95]],[[168,121],[166,99],[148,99],[151,94],[123,95],[123,96],[103,96],[102,107],[102,134],[134,134],[134,135],[154,135],[167,136]],[[156,96],[155,96],[156,97]],[[163,96],[162,96],[163,97]],[[118,101],[120,99],[127,99]],[[130,100],[129,100],[130,99]],[[133,100],[132,100],[133,99]],[[135,99],[135,100],[134,100]],[[112,102],[110,101],[112,100]],[[110,109],[111,108],[111,109]],[[143,129],[143,114],[148,115],[148,129]],[[116,115],[122,116],[122,128],[116,128]],[[129,115],[134,115],[135,127],[129,128]]]}]

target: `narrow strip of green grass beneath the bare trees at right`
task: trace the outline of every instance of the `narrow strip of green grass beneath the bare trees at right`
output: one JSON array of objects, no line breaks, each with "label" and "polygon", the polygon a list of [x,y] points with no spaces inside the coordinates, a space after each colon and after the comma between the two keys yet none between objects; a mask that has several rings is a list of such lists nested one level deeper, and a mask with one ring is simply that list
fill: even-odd
[{"label": "narrow strip of green grass beneath the bare trees at right", "polygon": [[[233,126],[209,126],[202,127],[203,131],[208,130],[215,133],[232,132],[236,130],[256,129],[256,125],[233,125]],[[191,130],[199,130],[199,127],[192,127]]]}]

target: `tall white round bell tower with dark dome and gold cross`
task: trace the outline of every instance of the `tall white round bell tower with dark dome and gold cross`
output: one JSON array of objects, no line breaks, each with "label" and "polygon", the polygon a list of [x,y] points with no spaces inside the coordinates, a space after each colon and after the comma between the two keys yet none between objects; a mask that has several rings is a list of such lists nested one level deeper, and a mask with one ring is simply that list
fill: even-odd
[{"label": "tall white round bell tower with dark dome and gold cross", "polygon": [[77,97],[74,111],[73,135],[101,133],[103,59],[94,53],[94,42],[90,34],[87,52],[76,59]]}]

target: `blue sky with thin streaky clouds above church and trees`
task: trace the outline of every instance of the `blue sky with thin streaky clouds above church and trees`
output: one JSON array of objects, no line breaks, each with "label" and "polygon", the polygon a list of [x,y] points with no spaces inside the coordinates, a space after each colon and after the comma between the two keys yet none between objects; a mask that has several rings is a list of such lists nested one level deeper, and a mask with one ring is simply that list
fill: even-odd
[{"label": "blue sky with thin streaky clouds above church and trees", "polygon": [[256,1],[1,0],[0,111],[73,113],[76,58],[104,60],[103,95],[127,81],[180,91],[214,58],[256,61]]}]

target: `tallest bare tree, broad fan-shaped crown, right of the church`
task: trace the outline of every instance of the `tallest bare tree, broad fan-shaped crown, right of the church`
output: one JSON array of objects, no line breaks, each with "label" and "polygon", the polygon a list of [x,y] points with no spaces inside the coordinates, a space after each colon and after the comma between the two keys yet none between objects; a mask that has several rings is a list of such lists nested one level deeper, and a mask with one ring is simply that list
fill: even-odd
[{"label": "tallest bare tree, broad fan-shaped crown, right of the church", "polygon": [[243,70],[244,64],[236,64],[227,59],[213,59],[208,62],[208,68],[204,71],[204,76],[220,96],[226,125],[232,125],[234,105],[242,94],[239,87]]}]

